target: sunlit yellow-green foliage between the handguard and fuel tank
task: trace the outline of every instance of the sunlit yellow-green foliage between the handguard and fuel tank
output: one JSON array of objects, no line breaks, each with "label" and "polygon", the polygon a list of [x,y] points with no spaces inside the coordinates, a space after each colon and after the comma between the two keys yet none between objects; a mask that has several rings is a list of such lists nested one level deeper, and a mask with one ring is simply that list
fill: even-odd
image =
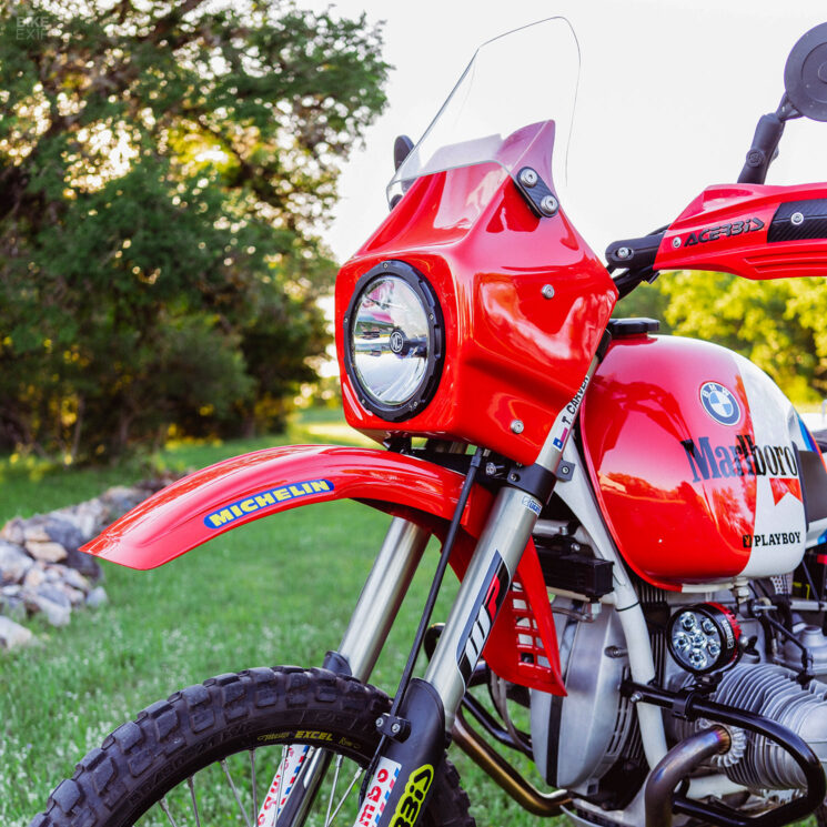
[{"label": "sunlit yellow-green foliage between the handguard and fuel tank", "polygon": [[616,315],[653,315],[677,335],[730,347],[765,370],[797,403],[827,396],[823,279],[749,281],[727,273],[663,273],[654,285],[624,299]]}]

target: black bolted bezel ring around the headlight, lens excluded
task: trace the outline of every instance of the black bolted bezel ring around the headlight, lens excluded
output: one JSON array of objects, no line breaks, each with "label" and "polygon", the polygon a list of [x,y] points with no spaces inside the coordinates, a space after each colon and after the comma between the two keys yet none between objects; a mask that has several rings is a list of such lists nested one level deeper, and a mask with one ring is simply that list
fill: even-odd
[{"label": "black bolted bezel ring around the headlight, lens excluded", "polygon": [[[399,405],[389,405],[379,402],[373,397],[356,373],[353,364],[351,345],[353,342],[353,322],[359,301],[365,290],[375,281],[395,276],[402,279],[416,294],[417,299],[425,307],[427,317],[428,349],[427,359],[425,360],[425,371],[420,382],[418,390],[414,395]],[[440,385],[442,369],[445,363],[445,326],[443,321],[442,307],[436,297],[434,289],[431,286],[425,276],[416,268],[404,261],[383,261],[381,264],[369,270],[360,280],[353,290],[353,295],[347,303],[347,311],[342,320],[344,326],[343,351],[344,369],[347,373],[360,404],[366,411],[380,416],[386,422],[403,422],[418,414],[434,397],[436,389]]]}]

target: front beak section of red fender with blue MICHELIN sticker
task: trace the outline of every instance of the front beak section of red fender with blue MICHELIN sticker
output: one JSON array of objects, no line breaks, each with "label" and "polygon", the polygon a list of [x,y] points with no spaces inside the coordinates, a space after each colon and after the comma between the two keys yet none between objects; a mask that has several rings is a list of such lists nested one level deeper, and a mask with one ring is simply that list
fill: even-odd
[{"label": "front beak section of red fender with blue MICHELIN sticker", "polygon": [[[390,514],[445,521],[462,474],[377,448],[290,445],[244,454],[179,480],[113,523],[82,551],[154,568],[230,528],[327,500],[363,500]],[[462,526],[477,536],[491,494],[474,488]]]}]

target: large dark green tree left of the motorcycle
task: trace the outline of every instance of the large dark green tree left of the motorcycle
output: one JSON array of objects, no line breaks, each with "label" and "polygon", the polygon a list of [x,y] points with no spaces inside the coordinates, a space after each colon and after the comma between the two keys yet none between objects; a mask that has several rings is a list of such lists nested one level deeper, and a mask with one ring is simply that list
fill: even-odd
[{"label": "large dark green tree left of the motorcycle", "polygon": [[279,0],[0,10],[0,444],[278,424],[327,342],[315,228],[380,47]]}]

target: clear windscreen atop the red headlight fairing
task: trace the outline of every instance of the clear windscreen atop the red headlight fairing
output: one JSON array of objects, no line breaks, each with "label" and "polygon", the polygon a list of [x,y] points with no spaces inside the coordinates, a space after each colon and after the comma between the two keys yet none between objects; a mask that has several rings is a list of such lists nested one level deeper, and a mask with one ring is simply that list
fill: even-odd
[{"label": "clear windscreen atop the red headlight fairing", "polygon": [[[389,201],[415,179],[444,170],[494,162],[512,172],[522,152],[508,139],[553,121],[555,191],[566,184],[566,153],[572,129],[579,48],[565,18],[549,18],[516,29],[477,49],[436,118],[387,186]],[[552,152],[552,147],[547,148]]]}]

